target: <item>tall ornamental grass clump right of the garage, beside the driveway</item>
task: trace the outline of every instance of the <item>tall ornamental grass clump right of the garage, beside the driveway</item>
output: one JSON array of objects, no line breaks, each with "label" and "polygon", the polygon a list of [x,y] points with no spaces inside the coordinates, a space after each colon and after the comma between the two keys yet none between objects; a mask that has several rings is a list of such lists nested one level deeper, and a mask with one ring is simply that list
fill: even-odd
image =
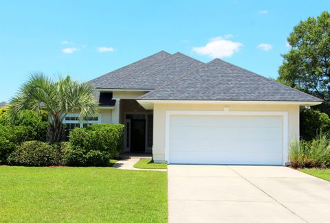
[{"label": "tall ornamental grass clump right of the garage, beside the driveway", "polygon": [[330,167],[330,137],[320,132],[312,141],[297,141],[290,143],[289,159],[292,167]]}]

